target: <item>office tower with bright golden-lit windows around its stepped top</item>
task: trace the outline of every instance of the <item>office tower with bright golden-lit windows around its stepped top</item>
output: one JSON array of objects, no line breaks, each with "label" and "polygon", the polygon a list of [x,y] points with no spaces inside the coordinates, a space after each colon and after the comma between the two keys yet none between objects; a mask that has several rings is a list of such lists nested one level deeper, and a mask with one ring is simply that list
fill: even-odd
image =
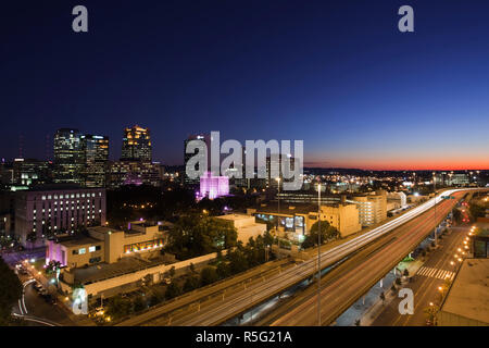
[{"label": "office tower with bright golden-lit windows around its stepped top", "polygon": [[124,129],[121,161],[151,162],[150,129],[138,125]]}]

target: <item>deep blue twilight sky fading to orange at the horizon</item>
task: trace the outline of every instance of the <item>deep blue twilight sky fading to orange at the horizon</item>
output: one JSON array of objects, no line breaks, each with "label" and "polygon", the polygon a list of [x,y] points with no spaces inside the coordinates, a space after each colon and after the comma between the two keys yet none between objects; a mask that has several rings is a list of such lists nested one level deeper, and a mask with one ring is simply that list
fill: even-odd
[{"label": "deep blue twilight sky fading to orange at the horizon", "polygon": [[[72,30],[73,7],[89,33]],[[415,33],[398,30],[398,9]],[[305,165],[489,169],[489,1],[9,1],[0,157],[46,158],[61,127],[184,139],[302,139]],[[52,146],[50,146],[52,152]],[[52,156],[52,154],[51,154]]]}]

